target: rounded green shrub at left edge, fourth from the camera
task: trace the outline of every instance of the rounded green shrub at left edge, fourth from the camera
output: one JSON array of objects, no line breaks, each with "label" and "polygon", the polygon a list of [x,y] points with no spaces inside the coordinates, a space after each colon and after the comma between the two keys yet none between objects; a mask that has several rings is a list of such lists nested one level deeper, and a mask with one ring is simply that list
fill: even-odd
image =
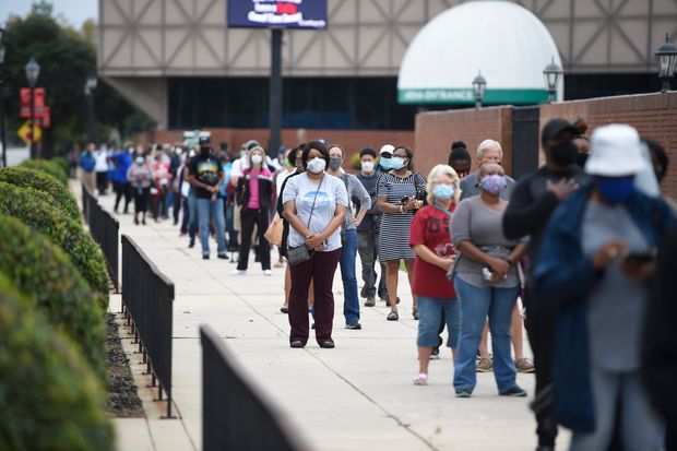
[{"label": "rounded green shrub at left edge, fourth from the camera", "polygon": [[71,219],[80,221],[80,209],[75,198],[54,177],[29,167],[5,167],[0,169],[0,181],[17,187],[34,188],[51,198],[54,206],[66,212]]}]

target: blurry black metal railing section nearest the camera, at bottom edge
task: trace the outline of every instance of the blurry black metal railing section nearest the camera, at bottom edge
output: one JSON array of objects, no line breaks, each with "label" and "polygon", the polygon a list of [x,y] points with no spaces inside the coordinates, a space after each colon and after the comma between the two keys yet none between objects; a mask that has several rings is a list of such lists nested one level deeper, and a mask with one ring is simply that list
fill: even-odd
[{"label": "blurry black metal railing section nearest the camera, at bottom edge", "polygon": [[245,375],[209,327],[202,342],[203,451],[301,451],[310,447],[276,404]]}]

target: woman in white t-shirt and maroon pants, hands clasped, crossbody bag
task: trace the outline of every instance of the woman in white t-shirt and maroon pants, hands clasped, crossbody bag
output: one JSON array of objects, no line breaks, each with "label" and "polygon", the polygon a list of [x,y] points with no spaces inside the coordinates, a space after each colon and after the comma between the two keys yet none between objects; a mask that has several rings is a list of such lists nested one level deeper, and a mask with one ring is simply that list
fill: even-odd
[{"label": "woman in white t-shirt and maroon pants, hands clasped, crossbody bag", "polygon": [[[308,342],[308,287],[312,280],[316,339],[321,347],[332,348],[332,283],[341,259],[341,225],[348,194],[341,179],[325,175],[329,150],[323,141],[308,143],[301,163],[306,173],[289,178],[282,194],[283,214],[290,225],[289,345],[304,347]],[[305,249],[308,252],[299,252]]]}]

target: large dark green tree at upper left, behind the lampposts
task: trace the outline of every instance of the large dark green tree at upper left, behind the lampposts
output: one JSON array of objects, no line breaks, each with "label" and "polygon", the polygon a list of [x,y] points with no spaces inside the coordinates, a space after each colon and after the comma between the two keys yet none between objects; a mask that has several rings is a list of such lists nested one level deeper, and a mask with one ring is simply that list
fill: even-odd
[{"label": "large dark green tree at upper left, behind the lampposts", "polygon": [[[86,140],[86,98],[84,84],[96,71],[96,24],[87,21],[78,31],[63,19],[52,16],[51,3],[41,0],[26,17],[11,16],[3,43],[5,57],[5,107],[8,129],[16,130],[24,119],[19,117],[19,90],[27,86],[24,66],[31,57],[40,64],[37,86],[45,87],[51,108],[51,133],[46,137],[57,144],[56,153],[64,154],[70,145]],[[130,117],[150,119],[106,83],[95,91],[97,139],[106,139],[111,128],[128,129]],[[11,138],[12,133],[8,133]]]}]

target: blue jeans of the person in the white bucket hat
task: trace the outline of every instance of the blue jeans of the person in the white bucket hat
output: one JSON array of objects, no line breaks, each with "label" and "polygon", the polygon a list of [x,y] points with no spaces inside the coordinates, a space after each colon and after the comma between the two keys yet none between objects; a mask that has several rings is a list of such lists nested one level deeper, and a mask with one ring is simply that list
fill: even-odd
[{"label": "blue jeans of the person in the white bucket hat", "polygon": [[660,451],[665,440],[665,426],[651,405],[640,371],[616,372],[591,367],[595,431],[574,432],[570,451],[606,450],[616,419],[616,405],[621,401],[620,441],[625,451]]}]

